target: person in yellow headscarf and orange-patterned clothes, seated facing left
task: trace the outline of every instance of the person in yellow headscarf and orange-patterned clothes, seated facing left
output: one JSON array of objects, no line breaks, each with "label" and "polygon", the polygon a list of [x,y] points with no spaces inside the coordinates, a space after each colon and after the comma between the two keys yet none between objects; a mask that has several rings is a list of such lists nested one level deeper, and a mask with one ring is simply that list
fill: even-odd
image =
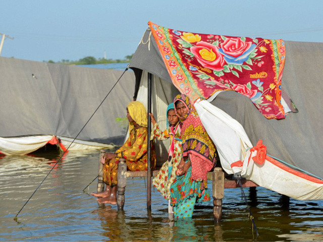
[{"label": "person in yellow headscarf and orange-patterned clothes, seated facing left", "polygon": [[[98,203],[117,204],[117,174],[119,158],[125,158],[128,170],[147,170],[147,111],[139,101],[129,102],[127,106],[129,121],[129,138],[115,153],[105,153],[101,159],[104,163],[103,181],[106,188],[102,193],[91,193]],[[151,169],[155,168],[156,156],[151,145]]]}]

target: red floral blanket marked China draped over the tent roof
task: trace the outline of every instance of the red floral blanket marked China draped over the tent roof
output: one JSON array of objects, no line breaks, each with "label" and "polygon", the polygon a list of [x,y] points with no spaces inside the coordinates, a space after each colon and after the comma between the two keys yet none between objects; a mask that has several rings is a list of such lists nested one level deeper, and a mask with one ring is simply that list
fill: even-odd
[{"label": "red floral blanket marked China draped over the tent roof", "polygon": [[148,22],[174,85],[194,102],[221,90],[251,99],[268,119],[285,118],[281,39],[232,37],[177,31]]}]

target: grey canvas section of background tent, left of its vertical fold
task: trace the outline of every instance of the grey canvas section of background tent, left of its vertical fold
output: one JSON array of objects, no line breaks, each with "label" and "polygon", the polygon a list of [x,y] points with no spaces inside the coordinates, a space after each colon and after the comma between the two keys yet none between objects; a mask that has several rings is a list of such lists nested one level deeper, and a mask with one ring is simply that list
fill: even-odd
[{"label": "grey canvas section of background tent, left of its vertical fold", "polygon": [[47,66],[1,57],[0,69],[1,86],[4,90],[0,96],[0,136],[54,134],[55,119],[43,113],[51,110],[51,115],[58,119],[62,118],[62,113],[57,105],[53,105],[59,99]]}]

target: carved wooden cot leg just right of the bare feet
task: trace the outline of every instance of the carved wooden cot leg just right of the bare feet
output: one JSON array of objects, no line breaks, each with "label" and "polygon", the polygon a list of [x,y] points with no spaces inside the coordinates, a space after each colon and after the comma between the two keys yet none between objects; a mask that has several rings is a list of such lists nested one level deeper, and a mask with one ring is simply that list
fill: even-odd
[{"label": "carved wooden cot leg just right of the bare feet", "polygon": [[118,163],[118,183],[117,183],[117,205],[118,210],[123,210],[125,205],[125,190],[127,185],[127,164],[124,158],[119,159]]}]

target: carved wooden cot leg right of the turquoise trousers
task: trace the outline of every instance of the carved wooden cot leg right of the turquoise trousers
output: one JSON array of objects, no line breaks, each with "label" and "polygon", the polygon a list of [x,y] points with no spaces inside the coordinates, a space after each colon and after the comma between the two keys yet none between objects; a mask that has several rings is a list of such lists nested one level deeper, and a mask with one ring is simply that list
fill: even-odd
[{"label": "carved wooden cot leg right of the turquoise trousers", "polygon": [[221,167],[214,168],[212,173],[212,197],[214,221],[220,222],[224,198],[224,172]]}]

